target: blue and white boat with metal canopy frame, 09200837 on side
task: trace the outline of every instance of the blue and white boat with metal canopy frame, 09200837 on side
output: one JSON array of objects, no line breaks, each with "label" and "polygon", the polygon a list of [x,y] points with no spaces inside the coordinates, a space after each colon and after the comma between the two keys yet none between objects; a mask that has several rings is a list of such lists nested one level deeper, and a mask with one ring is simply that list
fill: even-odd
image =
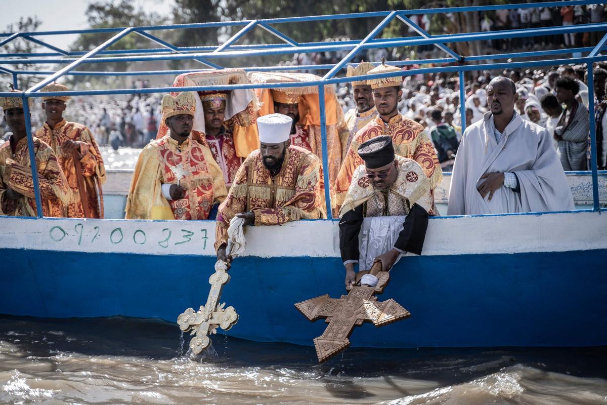
[{"label": "blue and white boat with metal canopy frame, 09200837 on side", "polygon": [[[575,0],[541,6],[588,3]],[[368,40],[289,44],[290,49],[286,50],[287,46],[281,45],[250,46],[251,49],[240,46],[226,52],[234,56],[239,56],[239,52],[264,55],[272,52],[308,52],[313,48],[319,52],[341,49],[352,53],[365,46],[432,43],[445,47],[444,43],[478,39],[479,35],[492,39],[513,35],[545,35],[546,32],[555,35],[581,30],[607,30],[607,23],[599,23],[583,27],[550,27],[534,33],[509,30],[430,36],[421,32],[419,37],[373,39],[398,16],[404,17],[401,20],[405,21],[406,15],[415,13],[539,6],[515,4],[373,13],[373,16],[383,16],[384,19],[371,32],[373,35]],[[367,14],[350,18],[361,18]],[[246,33],[245,29],[248,31],[256,24],[265,24],[266,29],[270,27],[271,32],[274,30],[279,38],[288,43],[288,37],[276,33],[277,30],[269,24],[322,18],[329,17],[233,23],[244,27],[240,36]],[[204,27],[205,24],[193,25]],[[128,33],[145,29],[116,29],[114,32],[117,34],[112,40],[91,51],[92,54],[80,56],[76,62],[57,63],[70,63],[68,67],[73,69],[98,53],[103,60],[107,46]],[[177,26],[166,29],[177,29]],[[10,34],[2,36],[5,37],[4,41],[10,38]],[[213,49],[220,48],[218,52],[222,52],[240,36],[235,35]],[[570,62],[591,64],[593,61],[607,60],[606,56],[600,55],[606,38],[593,49],[584,50],[587,56],[571,59],[548,59],[548,56],[581,51],[540,51],[532,52],[533,55],[523,52],[512,57],[534,56],[535,60],[422,67],[407,74],[443,69],[463,75],[467,70],[513,66]],[[144,51],[141,50],[141,53],[146,53]],[[214,57],[212,52],[207,51],[197,49],[194,53],[160,55],[157,50],[149,50],[151,56],[129,57],[134,60],[146,57],[159,60]],[[115,50],[112,52],[118,53]],[[436,63],[463,60],[458,58],[459,55],[447,53],[452,56]],[[120,60],[118,56],[112,58]],[[483,55],[477,60],[495,58],[496,55]],[[330,73],[333,74],[311,84],[345,83],[347,79],[334,78],[333,75],[347,66],[350,60],[344,58],[334,66],[325,67],[331,69]],[[7,60],[0,60],[0,64],[5,62]],[[402,65],[407,64],[407,61],[402,62]],[[408,62],[412,64],[412,61]],[[30,88],[24,97],[35,97],[44,84],[69,71],[51,72],[49,78]],[[589,88],[589,98],[592,98],[592,86]],[[209,90],[212,86],[187,89]],[[138,89],[137,92],[171,90],[176,89],[163,87]],[[84,90],[65,94],[125,94],[128,91]],[[594,117],[592,120],[591,128],[594,128]],[[594,143],[594,129],[591,130],[591,138]],[[326,147],[324,149],[324,161],[327,162]],[[559,213],[432,217],[422,255],[403,257],[391,272],[390,284],[378,296],[379,301],[395,299],[412,313],[411,318],[383,328],[365,324],[354,330],[352,345],[396,348],[606,345],[607,326],[603,318],[607,310],[607,171],[597,171],[594,147],[592,152],[592,171],[568,173],[579,209]],[[129,181],[129,171],[109,173],[105,193],[106,213],[108,218],[114,219],[0,217],[0,313],[52,318],[121,315],[175,322],[185,308],[198,308],[205,303],[210,288],[208,279],[215,264],[214,221],[121,219],[126,197],[124,183]],[[436,194],[439,203],[446,203],[448,188],[449,175],[446,175]],[[444,212],[444,207],[442,209]],[[280,226],[253,226],[247,228],[246,239],[246,253],[237,257],[229,270],[231,281],[225,286],[221,299],[226,305],[236,308],[240,315],[239,322],[226,333],[254,341],[311,345],[312,339],[322,334],[325,324],[310,324],[294,304],[322,294],[328,293],[337,298],[345,293],[337,220],[301,220]],[[175,330],[177,332],[177,327]]]}]

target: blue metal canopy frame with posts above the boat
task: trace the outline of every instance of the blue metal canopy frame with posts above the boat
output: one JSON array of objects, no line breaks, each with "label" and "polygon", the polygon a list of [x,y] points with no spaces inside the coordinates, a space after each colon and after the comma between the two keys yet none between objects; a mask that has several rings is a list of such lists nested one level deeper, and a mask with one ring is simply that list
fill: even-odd
[{"label": "blue metal canopy frame with posts above the boat", "polygon": [[[424,65],[424,64],[451,64],[441,67],[418,67],[416,69],[403,70],[395,73],[382,73],[376,75],[364,75],[356,77],[356,80],[370,78],[384,78],[409,76],[424,73],[437,72],[457,72],[459,75],[459,101],[461,108],[461,116],[466,117],[465,107],[465,91],[464,91],[464,72],[472,70],[494,70],[494,69],[512,69],[519,67],[534,67],[534,66],[549,66],[560,64],[580,63],[586,64],[588,69],[588,99],[589,115],[590,115],[590,138],[591,138],[591,166],[592,166],[592,194],[594,198],[594,206],[592,209],[583,211],[601,211],[599,206],[599,188],[597,171],[597,151],[596,151],[596,134],[595,134],[595,117],[594,117],[594,86],[592,77],[592,63],[597,61],[607,60],[607,56],[600,55],[602,50],[605,50],[607,45],[607,34],[600,39],[593,47],[580,47],[575,49],[556,49],[556,50],[541,50],[534,52],[519,52],[519,53],[503,53],[493,55],[473,55],[462,56],[450,49],[446,44],[458,43],[465,41],[487,41],[490,39],[504,38],[520,38],[527,36],[544,36],[544,35],[560,35],[565,33],[577,32],[592,32],[592,31],[607,31],[607,22],[593,24],[577,24],[574,26],[560,27],[544,27],[538,29],[518,29],[518,30],[503,30],[493,32],[476,32],[476,33],[459,33],[452,35],[430,35],[426,30],[419,27],[408,16],[436,13],[461,13],[461,12],[479,12],[491,11],[500,9],[531,9],[538,7],[563,7],[565,5],[587,5],[600,4],[597,0],[571,0],[558,2],[538,2],[529,4],[507,4],[507,5],[487,5],[482,7],[450,7],[443,9],[422,9],[422,10],[393,10],[388,12],[371,12],[371,13],[348,13],[340,15],[325,15],[325,16],[307,16],[293,18],[273,18],[273,19],[253,19],[241,21],[220,21],[220,22],[202,22],[198,24],[169,24],[163,26],[148,26],[148,27],[124,27],[124,28],[105,28],[105,29],[89,29],[89,30],[62,30],[51,32],[18,32],[18,33],[0,33],[0,46],[3,46],[16,38],[23,38],[27,41],[39,44],[53,52],[46,53],[7,53],[0,54],[0,65],[18,65],[18,64],[66,64],[67,66],[53,72],[48,70],[12,70],[7,67],[0,66],[0,75],[12,75],[15,89],[18,88],[19,75],[44,75],[48,76],[44,80],[36,83],[21,95],[15,96],[14,93],[0,92],[0,97],[22,97],[24,101],[24,112],[27,118],[27,141],[30,153],[30,162],[32,162],[33,183],[35,188],[36,209],[38,217],[42,217],[42,205],[38,186],[38,176],[36,162],[33,152],[32,127],[29,120],[29,105],[27,100],[32,97],[41,97],[39,90],[49,83],[57,80],[64,75],[87,75],[87,76],[134,76],[134,75],[162,75],[162,74],[180,74],[186,72],[197,72],[199,70],[183,69],[183,70],[163,70],[163,71],[141,71],[141,72],[92,72],[92,71],[75,71],[77,67],[87,63],[115,63],[115,62],[137,62],[137,61],[163,61],[163,60],[194,60],[206,66],[202,70],[223,69],[222,66],[215,64],[209,59],[217,58],[234,58],[243,56],[260,56],[260,55],[285,55],[293,53],[309,53],[309,52],[331,52],[331,51],[347,51],[347,55],[341,61],[332,64],[310,65],[310,66],[263,66],[263,67],[245,67],[243,69],[250,71],[285,71],[285,70],[328,70],[321,80],[307,81],[299,83],[271,83],[271,84],[239,84],[229,86],[190,86],[190,87],[154,87],[146,89],[113,89],[113,90],[72,90],[67,92],[56,92],[56,95],[117,95],[117,94],[149,94],[149,93],[166,93],[175,91],[200,91],[200,90],[231,90],[231,89],[254,89],[254,88],[278,88],[278,87],[300,87],[300,86],[318,86],[319,101],[320,101],[320,128],[322,132],[322,161],[325,181],[325,199],[327,201],[327,214],[331,218],[331,202],[329,185],[335,179],[329,179],[327,162],[327,134],[325,128],[325,103],[324,103],[324,86],[348,83],[354,78],[336,77],[337,73],[341,73],[347,66],[353,66],[353,60],[359,52],[365,49],[374,49],[382,47],[403,47],[403,46],[419,46],[425,44],[433,44],[443,50],[449,57],[435,58],[432,60],[413,60],[413,61],[388,61],[387,64],[394,66],[409,66],[409,65]],[[293,38],[280,32],[273,27],[274,24],[287,24],[297,22],[311,21],[328,21],[341,19],[355,18],[382,18],[381,22],[364,39],[349,40],[349,41],[325,41],[320,43],[298,43]],[[376,38],[381,31],[390,24],[390,22],[398,19],[407,24],[410,29],[414,30],[419,36],[403,37],[403,38]],[[238,32],[226,40],[219,46],[196,46],[196,47],[177,47],[161,38],[149,33],[150,31],[158,30],[175,30],[175,29],[203,29],[212,27],[242,27]],[[282,43],[280,44],[236,44],[239,39],[243,38],[248,32],[260,27],[267,32],[270,32]],[[36,36],[52,36],[52,35],[67,35],[67,34],[83,34],[83,33],[113,33],[114,36],[107,39],[104,43],[90,50],[89,52],[72,52],[52,46]],[[144,38],[150,39],[152,42],[159,44],[161,48],[153,49],[135,49],[135,50],[109,50],[108,47],[117,43],[121,38],[131,33],[136,33]],[[578,56],[575,58],[559,58],[559,59],[543,59],[534,61],[514,62],[510,60],[521,58],[546,58],[552,55],[573,55],[575,53],[588,53],[586,56]],[[109,56],[115,55],[115,56]],[[67,57],[66,57],[67,56]],[[21,59],[15,59],[21,58]],[[478,62],[496,59],[509,59],[504,63],[489,63],[489,64],[465,64],[469,62]],[[377,63],[376,63],[377,64]],[[462,131],[466,129],[466,122],[463,120]],[[603,173],[602,173],[603,174]]]}]

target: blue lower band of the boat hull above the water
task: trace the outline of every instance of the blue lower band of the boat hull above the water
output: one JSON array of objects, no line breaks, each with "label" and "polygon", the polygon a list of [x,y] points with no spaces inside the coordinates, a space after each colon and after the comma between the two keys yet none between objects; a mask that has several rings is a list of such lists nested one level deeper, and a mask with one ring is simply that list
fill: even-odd
[{"label": "blue lower band of the boat hull above the water", "polygon": [[[0,312],[44,317],[126,315],[175,321],[204,304],[212,256],[4,249]],[[365,347],[585,346],[607,344],[607,249],[404,257],[379,300],[412,317],[365,324]],[[325,324],[294,307],[329,293],[338,257],[240,257],[222,302],[240,315],[229,335],[310,345]],[[177,328],[176,328],[177,332]],[[217,339],[217,338],[215,338]]]}]

